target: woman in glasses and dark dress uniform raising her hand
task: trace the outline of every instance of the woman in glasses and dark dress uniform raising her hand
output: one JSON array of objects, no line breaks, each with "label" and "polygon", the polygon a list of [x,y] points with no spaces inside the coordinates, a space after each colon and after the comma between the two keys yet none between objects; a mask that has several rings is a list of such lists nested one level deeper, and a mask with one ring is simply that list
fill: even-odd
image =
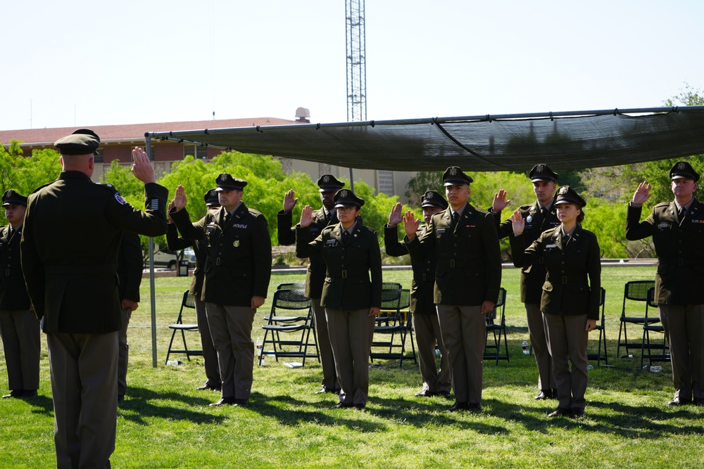
[{"label": "woman in glasses and dark dress uniform raising her hand", "polygon": [[327,266],[320,304],[341,389],[335,408],[364,409],[369,394],[369,354],[375,316],[382,305],[382,255],[377,232],[359,219],[364,200],[341,189],[334,196],[339,223],[310,241],[313,209],[301,211],[296,256],[322,256]]}]

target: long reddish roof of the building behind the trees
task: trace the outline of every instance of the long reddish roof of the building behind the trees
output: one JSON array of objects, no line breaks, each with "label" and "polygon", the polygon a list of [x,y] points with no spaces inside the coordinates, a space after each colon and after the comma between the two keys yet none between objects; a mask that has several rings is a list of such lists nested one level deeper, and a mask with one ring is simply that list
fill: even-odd
[{"label": "long reddish roof of the building behind the trees", "polygon": [[[290,125],[293,120],[277,117],[254,117],[247,119],[194,120],[190,122],[158,122],[152,124],[95,125],[84,126],[95,131],[102,143],[144,141],[146,132],[177,130],[229,129],[232,127],[255,127],[257,125]],[[21,140],[30,146],[52,146],[54,142],[81,127],[54,127],[51,129],[0,130],[0,142]]]}]

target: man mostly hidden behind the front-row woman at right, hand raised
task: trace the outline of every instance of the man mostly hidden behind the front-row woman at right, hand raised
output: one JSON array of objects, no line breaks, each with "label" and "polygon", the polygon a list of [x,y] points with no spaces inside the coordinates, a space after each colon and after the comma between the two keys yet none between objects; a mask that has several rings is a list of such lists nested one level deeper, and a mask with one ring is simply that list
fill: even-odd
[{"label": "man mostly hidden behind the front-row woman at right, hand raised", "polygon": [[[555,207],[553,206],[553,197],[557,187],[555,181],[557,181],[559,176],[548,165],[535,165],[528,173],[528,177],[533,183],[536,201],[529,205],[521,205],[518,208],[521,217],[525,220],[523,237],[527,246],[538,239],[543,231],[560,226],[560,221],[557,214],[555,214]],[[504,199],[501,197],[494,198],[492,212],[494,212],[497,219],[501,217],[501,210],[505,207]],[[505,219],[498,227],[498,238],[507,238],[511,235],[513,235],[513,226],[509,218]],[[521,301],[525,304],[528,335],[533,346],[535,361],[538,365],[538,389],[540,393],[535,399],[558,397],[550,352],[548,351],[548,342],[545,328],[543,327],[543,313],[540,311],[545,274],[542,257],[536,259],[532,265],[521,269]]]}]

